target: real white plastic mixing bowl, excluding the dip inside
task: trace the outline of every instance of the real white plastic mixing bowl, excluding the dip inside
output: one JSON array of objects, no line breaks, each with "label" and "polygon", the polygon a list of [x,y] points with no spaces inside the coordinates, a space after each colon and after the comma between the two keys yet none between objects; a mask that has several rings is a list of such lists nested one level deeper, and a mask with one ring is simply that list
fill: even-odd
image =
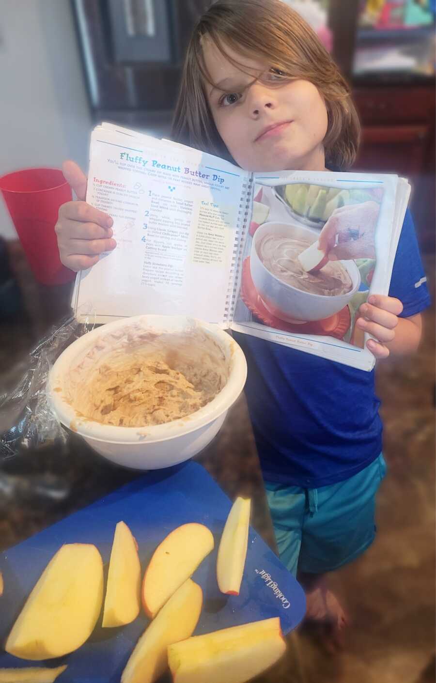
[{"label": "real white plastic mixing bowl, excluding the dip inside", "polygon": [[[201,332],[222,352],[226,385],[215,398],[195,413],[171,422],[140,427],[116,427],[81,416],[68,400],[68,382],[83,359],[100,362],[107,339],[120,338],[138,328],[144,333]],[[105,341],[106,340],[106,341]],[[103,343],[102,343],[103,342]],[[198,348],[197,357],[207,352]],[[216,348],[216,347],[215,347]],[[220,352],[220,356],[221,356]],[[68,375],[70,373],[70,375]],[[83,335],[57,359],[49,375],[48,392],[59,421],[74,430],[108,460],[135,469],[160,469],[189,460],[212,441],[228,409],[239,397],[247,377],[247,363],[241,348],[214,324],[182,316],[136,316],[117,320]]]}]

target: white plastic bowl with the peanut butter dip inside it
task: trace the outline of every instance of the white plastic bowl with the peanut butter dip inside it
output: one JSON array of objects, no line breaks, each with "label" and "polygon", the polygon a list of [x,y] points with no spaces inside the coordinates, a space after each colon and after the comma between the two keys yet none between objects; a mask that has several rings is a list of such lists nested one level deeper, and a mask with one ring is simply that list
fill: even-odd
[{"label": "white plastic bowl with the peanut butter dip inside it", "polygon": [[98,453],[159,469],[212,440],[246,375],[241,348],[216,325],[138,316],[77,339],[53,365],[48,391],[59,421]]}]

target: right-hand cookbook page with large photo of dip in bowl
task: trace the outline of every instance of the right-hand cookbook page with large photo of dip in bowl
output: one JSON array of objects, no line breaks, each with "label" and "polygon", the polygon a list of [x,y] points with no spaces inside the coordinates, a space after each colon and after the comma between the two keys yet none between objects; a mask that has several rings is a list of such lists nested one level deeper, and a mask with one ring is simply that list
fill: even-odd
[{"label": "right-hand cookbook page with large photo of dip in bowl", "polygon": [[355,322],[370,293],[389,291],[409,185],[327,171],[254,181],[232,329],[371,370]]}]

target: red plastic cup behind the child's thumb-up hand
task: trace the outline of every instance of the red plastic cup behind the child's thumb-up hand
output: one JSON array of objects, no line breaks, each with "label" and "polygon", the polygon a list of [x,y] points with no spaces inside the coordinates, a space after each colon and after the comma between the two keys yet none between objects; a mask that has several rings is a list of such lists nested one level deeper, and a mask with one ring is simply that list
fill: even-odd
[{"label": "red plastic cup behind the child's thumb-up hand", "polygon": [[59,169],[24,169],[0,178],[0,190],[33,275],[44,285],[70,282],[75,273],[62,265],[55,223],[59,206],[72,200]]}]

